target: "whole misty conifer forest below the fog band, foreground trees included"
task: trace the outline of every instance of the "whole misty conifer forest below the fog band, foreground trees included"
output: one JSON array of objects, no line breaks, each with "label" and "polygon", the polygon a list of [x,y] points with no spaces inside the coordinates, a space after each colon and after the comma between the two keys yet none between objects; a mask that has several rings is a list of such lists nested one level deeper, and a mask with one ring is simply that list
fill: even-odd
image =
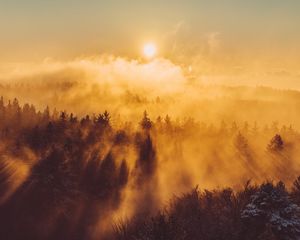
[{"label": "whole misty conifer forest below the fog band, foreground trees included", "polygon": [[1,98],[0,238],[299,239],[299,143],[276,121],[134,123]]}]

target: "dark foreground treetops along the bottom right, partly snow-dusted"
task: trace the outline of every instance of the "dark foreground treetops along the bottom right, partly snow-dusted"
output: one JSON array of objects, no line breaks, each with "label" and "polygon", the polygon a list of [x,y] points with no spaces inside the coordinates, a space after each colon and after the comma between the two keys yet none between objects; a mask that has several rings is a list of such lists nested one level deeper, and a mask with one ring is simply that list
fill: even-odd
[{"label": "dark foreground treetops along the bottom right, partly snow-dusted", "polygon": [[[295,181],[298,186],[298,181]],[[243,190],[200,191],[175,197],[152,218],[115,226],[119,240],[296,240],[300,238],[299,189],[289,193],[282,182],[249,183]],[[297,194],[296,194],[297,192]]]}]

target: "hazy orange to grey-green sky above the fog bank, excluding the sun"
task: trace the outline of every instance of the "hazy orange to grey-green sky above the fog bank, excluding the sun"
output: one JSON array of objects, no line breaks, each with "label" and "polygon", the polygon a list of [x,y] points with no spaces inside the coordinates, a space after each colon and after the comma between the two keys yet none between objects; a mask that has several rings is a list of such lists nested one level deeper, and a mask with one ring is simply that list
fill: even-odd
[{"label": "hazy orange to grey-green sky above the fog bank, excluding the sun", "polygon": [[0,63],[113,54],[206,75],[299,78],[298,0],[0,0]]}]

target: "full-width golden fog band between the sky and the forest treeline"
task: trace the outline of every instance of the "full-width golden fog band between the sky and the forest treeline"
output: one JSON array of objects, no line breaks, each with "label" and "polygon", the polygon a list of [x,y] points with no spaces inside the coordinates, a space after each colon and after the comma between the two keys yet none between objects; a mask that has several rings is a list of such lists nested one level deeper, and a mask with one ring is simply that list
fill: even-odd
[{"label": "full-width golden fog band between the sky and the forest treeline", "polygon": [[[296,90],[265,86],[215,84],[167,59],[129,60],[101,56],[59,62],[12,64],[1,71],[1,94],[39,109],[76,115],[105,109],[136,120],[144,110],[151,118],[170,115],[199,121],[278,121],[296,126],[300,95]],[[262,115],[263,114],[263,115]]]}]

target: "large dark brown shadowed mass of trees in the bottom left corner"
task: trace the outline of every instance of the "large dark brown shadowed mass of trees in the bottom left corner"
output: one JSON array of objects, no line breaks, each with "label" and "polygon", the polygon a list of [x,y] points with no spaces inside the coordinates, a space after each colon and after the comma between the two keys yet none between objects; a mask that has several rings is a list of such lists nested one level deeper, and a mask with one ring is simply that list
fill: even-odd
[{"label": "large dark brown shadowed mass of trees in the bottom left corner", "polygon": [[52,149],[0,207],[5,239],[91,239],[91,227],[118,208],[128,180],[126,162],[117,168],[109,153],[100,166],[90,161],[80,170],[65,153]]}]

